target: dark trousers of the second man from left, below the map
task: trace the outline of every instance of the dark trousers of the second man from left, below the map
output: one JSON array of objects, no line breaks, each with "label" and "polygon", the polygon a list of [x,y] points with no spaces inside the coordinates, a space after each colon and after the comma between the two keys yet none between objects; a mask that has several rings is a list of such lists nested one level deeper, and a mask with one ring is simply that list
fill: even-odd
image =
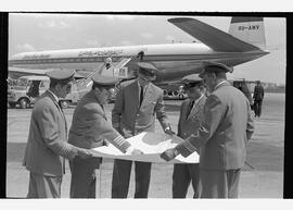
[{"label": "dark trousers of the second man from left, below the map", "polygon": [[95,198],[95,173],[101,158],[82,160],[78,157],[69,161],[72,171],[71,198]]}]

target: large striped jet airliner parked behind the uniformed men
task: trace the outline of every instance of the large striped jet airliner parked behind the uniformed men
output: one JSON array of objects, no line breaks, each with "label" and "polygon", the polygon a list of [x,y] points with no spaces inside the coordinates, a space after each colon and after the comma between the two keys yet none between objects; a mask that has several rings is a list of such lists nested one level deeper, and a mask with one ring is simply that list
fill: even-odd
[{"label": "large striped jet airliner parked behind the uniformed men", "polygon": [[156,83],[167,83],[199,73],[202,71],[203,61],[220,62],[233,67],[268,53],[263,50],[266,47],[263,17],[232,17],[229,34],[190,17],[170,18],[168,22],[202,44],[163,44],[23,52],[13,55],[9,61],[9,76],[13,78],[27,74],[36,75],[38,72],[43,74],[48,69],[60,69],[60,71],[75,69],[86,77],[99,70],[103,75],[114,76],[113,67],[103,69],[105,63],[110,61],[113,66],[116,64],[116,66],[126,67],[128,72],[126,77],[131,77],[137,71],[136,63],[144,61],[157,67]]}]

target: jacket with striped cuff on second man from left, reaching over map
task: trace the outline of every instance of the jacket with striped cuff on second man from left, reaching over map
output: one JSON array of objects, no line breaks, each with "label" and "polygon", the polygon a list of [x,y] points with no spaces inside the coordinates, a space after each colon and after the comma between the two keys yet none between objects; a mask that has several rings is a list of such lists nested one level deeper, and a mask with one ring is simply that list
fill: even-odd
[{"label": "jacket with striped cuff on second man from left, reaching over map", "polygon": [[103,146],[104,139],[123,152],[130,146],[106,120],[103,107],[91,90],[82,97],[74,111],[68,143],[91,149]]}]

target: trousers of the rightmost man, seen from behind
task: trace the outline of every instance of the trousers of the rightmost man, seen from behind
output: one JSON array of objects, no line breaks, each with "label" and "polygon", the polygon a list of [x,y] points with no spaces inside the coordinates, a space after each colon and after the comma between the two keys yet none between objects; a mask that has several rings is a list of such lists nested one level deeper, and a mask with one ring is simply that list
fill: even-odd
[{"label": "trousers of the rightmost man, seen from behind", "polygon": [[240,169],[200,170],[201,198],[238,198]]}]

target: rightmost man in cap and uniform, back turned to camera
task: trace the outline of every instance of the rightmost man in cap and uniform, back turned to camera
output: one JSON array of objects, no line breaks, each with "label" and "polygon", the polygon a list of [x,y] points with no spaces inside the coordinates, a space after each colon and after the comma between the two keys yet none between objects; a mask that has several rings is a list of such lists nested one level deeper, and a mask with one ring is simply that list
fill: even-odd
[{"label": "rightmost man in cap and uniform, back turned to camera", "polygon": [[238,198],[246,145],[254,132],[247,98],[227,81],[231,70],[215,62],[204,62],[200,74],[211,95],[204,106],[201,127],[184,143],[162,153],[171,160],[179,153],[200,152],[201,198]]}]

